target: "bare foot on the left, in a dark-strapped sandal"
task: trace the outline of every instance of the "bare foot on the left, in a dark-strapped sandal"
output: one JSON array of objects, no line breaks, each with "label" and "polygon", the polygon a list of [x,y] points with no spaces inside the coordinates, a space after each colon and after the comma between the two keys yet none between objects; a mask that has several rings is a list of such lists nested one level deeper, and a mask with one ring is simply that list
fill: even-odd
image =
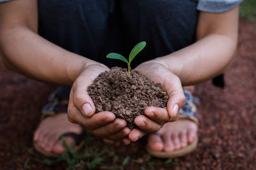
[{"label": "bare foot on the left, in a dark-strapped sandal", "polygon": [[[58,113],[54,117],[47,117],[38,126],[34,134],[34,141],[46,152],[61,154],[64,151],[60,136],[65,132],[81,134],[80,125],[68,122],[67,113]],[[70,146],[74,139],[65,137],[67,145]]]}]

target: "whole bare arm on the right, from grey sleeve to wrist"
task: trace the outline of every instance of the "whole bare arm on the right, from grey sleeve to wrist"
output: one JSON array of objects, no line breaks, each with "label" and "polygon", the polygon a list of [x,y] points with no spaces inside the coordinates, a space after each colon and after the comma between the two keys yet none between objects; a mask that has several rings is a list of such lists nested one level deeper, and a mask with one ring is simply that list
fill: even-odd
[{"label": "whole bare arm on the right, from grey sleeve to wrist", "polygon": [[196,41],[157,60],[179,76],[182,85],[193,85],[222,73],[237,46],[239,6],[223,13],[200,11]]}]

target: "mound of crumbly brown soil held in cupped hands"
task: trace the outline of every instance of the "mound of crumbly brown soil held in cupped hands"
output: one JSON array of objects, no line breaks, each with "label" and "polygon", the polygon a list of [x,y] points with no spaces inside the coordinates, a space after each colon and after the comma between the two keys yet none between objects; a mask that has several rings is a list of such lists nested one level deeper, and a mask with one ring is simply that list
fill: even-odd
[{"label": "mound of crumbly brown soil held in cupped hands", "polygon": [[164,108],[169,98],[161,83],[154,84],[134,70],[128,78],[127,69],[120,67],[100,73],[88,87],[88,93],[95,104],[96,113],[111,111],[116,117],[124,118],[131,129],[136,127],[134,118],[145,115],[145,108]]}]

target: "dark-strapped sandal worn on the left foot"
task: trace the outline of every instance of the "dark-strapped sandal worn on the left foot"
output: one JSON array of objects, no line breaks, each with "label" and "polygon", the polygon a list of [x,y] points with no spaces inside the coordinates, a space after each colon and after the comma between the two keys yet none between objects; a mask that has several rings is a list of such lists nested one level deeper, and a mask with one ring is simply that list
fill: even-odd
[{"label": "dark-strapped sandal worn on the left foot", "polygon": [[[42,110],[42,116],[41,121],[44,120],[47,117],[53,117],[57,114],[67,114],[67,107],[68,107],[68,101],[67,99],[61,99],[60,97],[50,97],[49,98],[50,103],[48,103],[46,106],[44,106]],[[76,134],[74,132],[65,132],[62,134],[59,138],[61,140],[61,137],[71,137],[75,141],[74,151],[77,152],[80,150],[84,145],[84,136],[86,132],[83,130],[81,134]],[[34,148],[36,152],[44,155],[45,157],[59,157],[60,154],[54,153],[54,152],[46,152],[43,150],[38,143],[35,141],[33,142]]]}]

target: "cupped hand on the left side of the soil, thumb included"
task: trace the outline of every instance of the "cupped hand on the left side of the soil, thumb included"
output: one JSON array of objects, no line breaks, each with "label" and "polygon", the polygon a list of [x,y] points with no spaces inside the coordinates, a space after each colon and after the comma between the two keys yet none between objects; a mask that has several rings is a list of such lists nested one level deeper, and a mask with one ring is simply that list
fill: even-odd
[{"label": "cupped hand on the left side of the soil, thumb included", "polygon": [[88,86],[97,76],[109,68],[100,63],[85,66],[72,85],[68,103],[68,120],[80,124],[94,136],[120,140],[127,138],[131,131],[125,120],[116,118],[114,113],[102,111],[95,113],[95,105],[87,92]]}]

